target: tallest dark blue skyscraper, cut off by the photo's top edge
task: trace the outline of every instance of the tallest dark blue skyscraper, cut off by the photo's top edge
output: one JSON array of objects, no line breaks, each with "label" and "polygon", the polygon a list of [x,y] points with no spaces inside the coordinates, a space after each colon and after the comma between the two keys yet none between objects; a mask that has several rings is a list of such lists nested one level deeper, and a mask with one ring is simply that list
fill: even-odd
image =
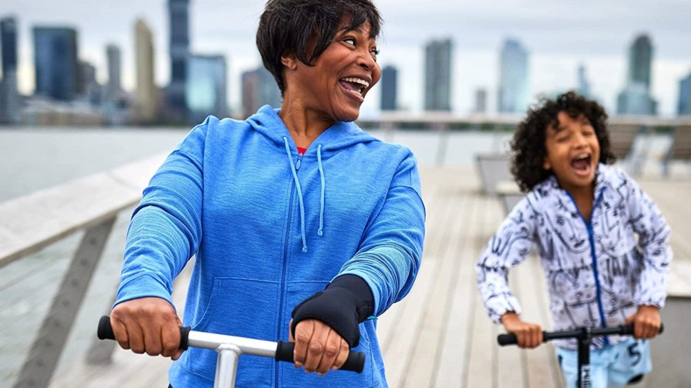
[{"label": "tallest dark blue skyscraper, cut off by the photo's top edge", "polygon": [[189,0],[168,0],[170,16],[171,81],[168,104],[173,112],[184,114],[185,77],[189,55]]}]

